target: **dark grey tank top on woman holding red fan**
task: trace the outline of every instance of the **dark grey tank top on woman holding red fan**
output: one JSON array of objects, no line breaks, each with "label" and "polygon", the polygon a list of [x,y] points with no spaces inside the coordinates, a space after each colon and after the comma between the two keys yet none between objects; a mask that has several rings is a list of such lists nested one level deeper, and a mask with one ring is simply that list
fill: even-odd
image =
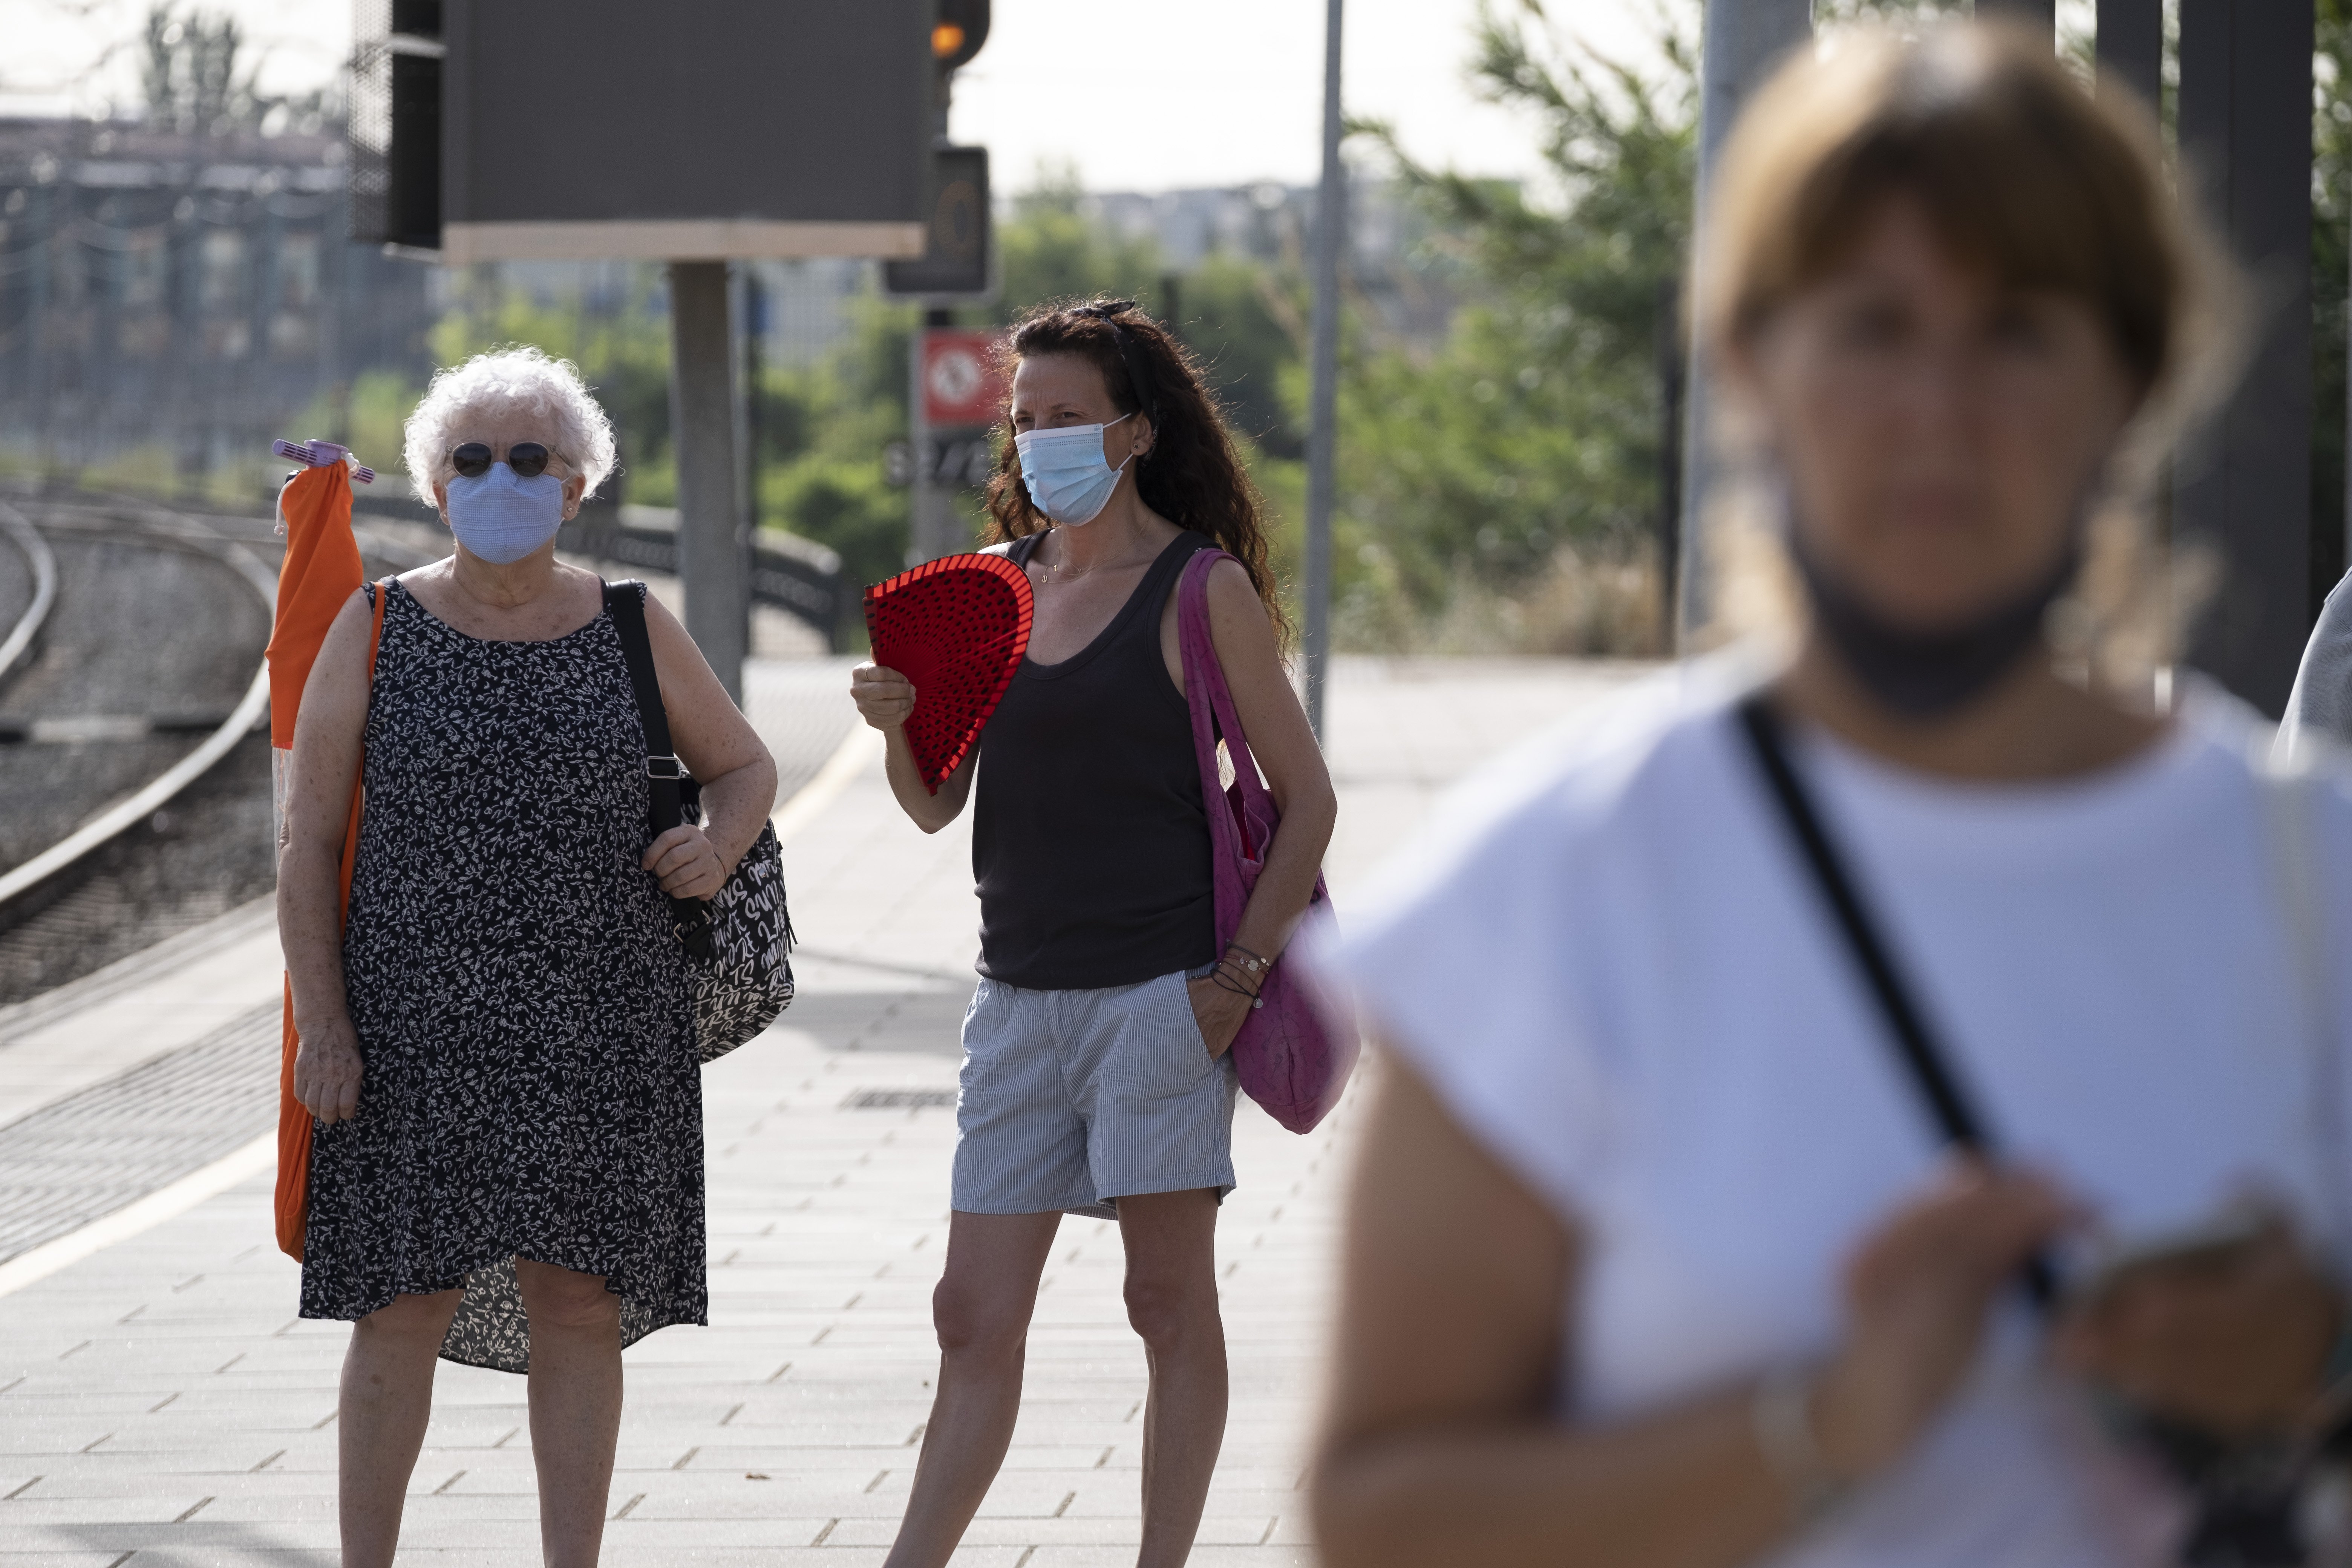
[{"label": "dark grey tank top on woman holding red fan", "polygon": [[[1011,559],[1028,567],[1040,538]],[[1096,990],[1216,957],[1192,719],[1160,658],[1167,597],[1209,548],[1181,534],[1094,642],[1023,658],[981,731],[971,875],[990,980]]]}]

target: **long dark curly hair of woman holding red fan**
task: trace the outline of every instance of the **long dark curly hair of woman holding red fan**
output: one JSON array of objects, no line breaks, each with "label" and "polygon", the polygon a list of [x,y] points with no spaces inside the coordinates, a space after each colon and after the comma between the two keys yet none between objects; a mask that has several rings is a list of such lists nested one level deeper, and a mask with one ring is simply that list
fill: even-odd
[{"label": "long dark curly hair of woman holding red fan", "polygon": [[[1117,324],[1117,327],[1112,327]],[[1124,341],[1124,348],[1120,339]],[[1145,411],[1152,421],[1152,449],[1138,458],[1136,494],[1183,529],[1214,538],[1242,562],[1251,588],[1265,604],[1268,621],[1289,637],[1289,621],[1265,564],[1265,520],[1258,489],[1242,473],[1242,458],[1225,433],[1216,397],[1202,386],[1200,364],[1160,322],[1131,299],[1061,301],[1030,310],[1000,341],[997,360],[1004,386],[1014,367],[1033,355],[1080,355],[1103,371],[1110,402],[1120,414]],[[1129,360],[1129,355],[1134,355]],[[1136,381],[1145,386],[1136,386]],[[1021,482],[1021,456],[1014,451],[1014,411],[1007,397],[1004,440],[997,442],[997,470],[988,480],[988,515],[997,524],[997,543],[1025,538],[1051,522],[1030,503]]]}]

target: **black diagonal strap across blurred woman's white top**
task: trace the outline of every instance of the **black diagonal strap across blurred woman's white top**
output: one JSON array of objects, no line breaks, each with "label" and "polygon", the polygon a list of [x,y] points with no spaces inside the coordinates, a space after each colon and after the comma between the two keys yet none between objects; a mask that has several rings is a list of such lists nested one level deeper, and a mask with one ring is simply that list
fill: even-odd
[{"label": "black diagonal strap across blurred woman's white top", "polygon": [[[1912,990],[1905,985],[1903,971],[1896,969],[1886,943],[1879,940],[1879,931],[1863,907],[1863,896],[1853,886],[1853,877],[1846,875],[1846,863],[1830,842],[1830,832],[1820,823],[1820,811],[1813,809],[1813,797],[1788,759],[1780,717],[1771,710],[1762,691],[1740,703],[1738,717],[1740,729],[1748,733],[1748,750],[1755,752],[1757,769],[1764,773],[1764,783],[1771,785],[1790,837],[1804,851],[1813,884],[1820,889],[1823,900],[1828,900],[1830,914],[1837,917],[1846,950],[1863,971],[1872,1001],[1879,1004],[1879,1016],[1886,1020],[1886,1032],[1903,1058],[1903,1070],[1926,1103],[1936,1131],[1943,1133],[1945,1143],[1962,1150],[1992,1154],[1992,1133],[1985,1131],[1985,1119],[1976,1114],[1959,1079],[1952,1077],[1947,1053],[1936,1041],[1933,1030],[1929,1030],[1926,1016],[1912,1001]],[[2037,1253],[2025,1260],[2025,1293],[2044,1312],[2058,1300],[2058,1279],[2051,1274],[2049,1258]]]}]

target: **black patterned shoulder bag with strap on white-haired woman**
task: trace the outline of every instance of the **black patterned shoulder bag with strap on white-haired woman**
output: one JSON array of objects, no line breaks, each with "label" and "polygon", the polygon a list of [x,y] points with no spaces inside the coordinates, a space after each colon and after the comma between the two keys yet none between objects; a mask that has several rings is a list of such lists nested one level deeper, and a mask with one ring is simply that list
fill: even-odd
[{"label": "black patterned shoulder bag with strap on white-haired woman", "polygon": [[[654,644],[644,632],[644,583],[604,583],[604,611],[621,635],[621,658],[644,724],[652,837],[682,823],[701,825],[703,790],[670,752],[670,712],[661,705]],[[760,825],[760,839],[710,900],[670,898],[670,922],[687,950],[701,1060],[727,1056],[793,1004],[793,914],[783,903],[783,853],[774,825]]]}]

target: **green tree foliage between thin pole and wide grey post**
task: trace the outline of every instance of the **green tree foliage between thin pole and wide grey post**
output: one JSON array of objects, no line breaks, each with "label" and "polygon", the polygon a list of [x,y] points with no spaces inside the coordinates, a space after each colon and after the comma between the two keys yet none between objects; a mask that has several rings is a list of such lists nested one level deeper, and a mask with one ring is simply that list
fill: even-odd
[{"label": "green tree foliage between thin pole and wide grey post", "polygon": [[1435,172],[1369,127],[1451,235],[1470,299],[1432,360],[1359,343],[1341,400],[1341,590],[1402,635],[1465,585],[1628,548],[1658,517],[1661,348],[1689,240],[1696,5],[1656,12],[1663,68],[1611,61],[1536,0],[1477,21],[1484,96],[1538,125],[1552,200]]}]

